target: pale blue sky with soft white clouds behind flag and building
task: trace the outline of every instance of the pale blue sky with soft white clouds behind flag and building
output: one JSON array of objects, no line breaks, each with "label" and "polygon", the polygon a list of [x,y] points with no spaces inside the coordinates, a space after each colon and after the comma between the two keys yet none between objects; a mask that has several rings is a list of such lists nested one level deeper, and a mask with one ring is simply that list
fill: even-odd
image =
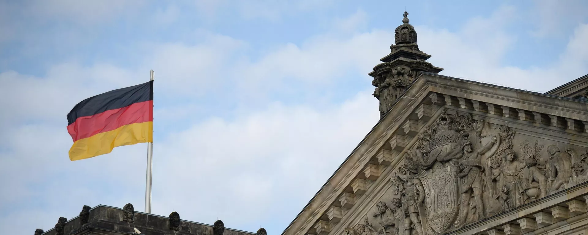
[{"label": "pale blue sky with soft white clouds behind flag and building", "polygon": [[153,69],[152,213],[280,234],[377,122],[367,74],[405,9],[442,75],[588,73],[585,1],[0,1],[0,227],[143,210],[146,145],[70,162],[65,115]]}]

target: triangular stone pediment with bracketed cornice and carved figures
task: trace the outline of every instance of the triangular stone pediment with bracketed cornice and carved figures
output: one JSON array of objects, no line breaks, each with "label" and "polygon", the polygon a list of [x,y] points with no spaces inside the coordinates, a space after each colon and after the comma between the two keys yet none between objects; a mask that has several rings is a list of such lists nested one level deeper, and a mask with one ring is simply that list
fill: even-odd
[{"label": "triangular stone pediment with bracketed cornice and carved figures", "polygon": [[586,213],[587,124],[588,102],[421,73],[283,234],[546,230]]}]

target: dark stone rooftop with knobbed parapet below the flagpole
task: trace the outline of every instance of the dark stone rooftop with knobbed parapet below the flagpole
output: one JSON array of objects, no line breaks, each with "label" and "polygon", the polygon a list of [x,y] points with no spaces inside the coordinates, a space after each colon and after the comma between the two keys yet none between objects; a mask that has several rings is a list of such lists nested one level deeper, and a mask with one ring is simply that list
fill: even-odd
[{"label": "dark stone rooftop with knobbed parapet below the flagpole", "polygon": [[54,228],[35,231],[35,235],[41,234],[267,235],[263,228],[257,233],[228,229],[222,220],[215,221],[213,225],[181,220],[178,212],[172,212],[168,217],[135,212],[131,203],[122,209],[103,205],[93,208],[83,206],[79,216],[71,220],[60,217]]}]

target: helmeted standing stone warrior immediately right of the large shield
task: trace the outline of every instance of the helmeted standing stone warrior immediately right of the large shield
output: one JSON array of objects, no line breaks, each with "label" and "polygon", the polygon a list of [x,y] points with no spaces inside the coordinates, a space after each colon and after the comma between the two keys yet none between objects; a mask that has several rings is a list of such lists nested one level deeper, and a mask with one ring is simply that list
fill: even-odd
[{"label": "helmeted standing stone warrior immediately right of the large shield", "polygon": [[[467,135],[465,135],[467,136]],[[474,203],[476,207],[477,216],[479,219],[486,217],[484,203],[482,201],[482,171],[484,167],[480,163],[480,155],[486,153],[497,142],[496,136],[492,137],[492,141],[487,143],[479,150],[472,149],[472,143],[469,140],[462,142],[463,160],[460,162],[460,168],[456,170],[457,177],[462,179],[462,206],[460,208],[460,225],[466,223],[468,204],[472,192],[474,195]],[[475,217],[470,220],[477,220]]]}]

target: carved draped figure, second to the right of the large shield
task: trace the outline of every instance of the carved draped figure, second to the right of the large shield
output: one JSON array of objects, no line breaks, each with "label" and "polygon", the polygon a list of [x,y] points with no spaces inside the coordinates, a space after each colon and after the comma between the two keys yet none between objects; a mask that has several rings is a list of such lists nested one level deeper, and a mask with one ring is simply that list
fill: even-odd
[{"label": "carved draped figure, second to the right of the large shield", "polygon": [[519,174],[525,167],[525,163],[519,162],[515,150],[505,149],[503,152],[503,163],[500,166],[499,189],[506,194],[505,210],[520,206]]}]

